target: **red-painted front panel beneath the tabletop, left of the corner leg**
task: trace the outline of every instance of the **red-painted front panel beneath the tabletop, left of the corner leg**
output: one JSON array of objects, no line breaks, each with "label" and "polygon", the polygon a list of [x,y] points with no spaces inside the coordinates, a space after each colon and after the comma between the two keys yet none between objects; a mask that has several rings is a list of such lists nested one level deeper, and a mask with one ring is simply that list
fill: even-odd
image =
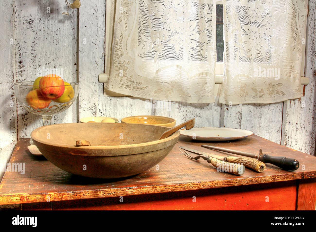
[{"label": "red-painted front panel beneath the tabletop, left of the corner leg", "polygon": [[[23,204],[23,210],[295,210],[297,182]],[[315,184],[315,183],[314,183]]]}]

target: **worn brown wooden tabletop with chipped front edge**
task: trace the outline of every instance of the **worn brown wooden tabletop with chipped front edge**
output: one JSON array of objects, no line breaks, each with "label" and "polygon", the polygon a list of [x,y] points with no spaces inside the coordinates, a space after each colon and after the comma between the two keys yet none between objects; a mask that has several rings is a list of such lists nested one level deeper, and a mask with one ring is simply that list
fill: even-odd
[{"label": "worn brown wooden tabletop with chipped front edge", "polygon": [[[90,179],[72,175],[59,169],[44,157],[33,156],[27,149],[29,139],[20,139],[15,147],[10,164],[25,164],[25,173],[7,171],[0,184],[0,205],[32,202],[89,199],[126,196],[146,193],[164,193],[205,188],[242,186],[275,181],[316,177],[316,158],[291,148],[281,146],[259,136],[230,141],[192,141],[180,136],[178,143],[168,156],[148,171],[119,180]],[[221,146],[234,150],[264,153],[275,156],[288,156],[300,162],[296,171],[285,171],[272,164],[257,173],[246,169],[242,176],[217,172],[204,160],[194,161],[179,152],[179,146],[211,152],[201,144]],[[221,155],[220,152],[213,151]]]}]

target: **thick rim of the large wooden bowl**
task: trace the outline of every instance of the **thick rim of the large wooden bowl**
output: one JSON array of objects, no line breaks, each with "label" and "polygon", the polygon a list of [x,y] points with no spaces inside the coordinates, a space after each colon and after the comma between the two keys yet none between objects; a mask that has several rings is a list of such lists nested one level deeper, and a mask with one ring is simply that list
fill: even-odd
[{"label": "thick rim of the large wooden bowl", "polygon": [[[150,142],[145,142],[145,143],[136,143],[136,144],[128,144],[128,145],[113,145],[113,146],[75,146],[75,141],[74,141],[74,145],[59,145],[59,144],[55,144],[55,143],[49,143],[46,140],[41,140],[40,138],[35,137],[37,131],[39,131],[41,128],[44,127],[51,127],[51,126],[55,126],[55,125],[61,125],[61,124],[76,124],[78,122],[75,123],[60,123],[60,124],[52,124],[52,125],[48,125],[48,126],[42,126],[39,128],[36,128],[35,130],[32,131],[31,133],[31,138],[39,143],[48,145],[48,146],[54,146],[54,147],[60,147],[62,149],[64,148],[76,148],[76,149],[82,149],[82,150],[93,150],[93,149],[102,149],[102,150],[112,150],[112,149],[122,149],[122,148],[138,148],[138,147],[145,147],[145,146],[151,146],[151,145],[155,145],[155,144],[159,144],[159,143],[165,143],[169,140],[173,140],[176,139],[177,137],[180,136],[180,131],[176,131],[175,133],[173,133],[172,135],[170,135],[169,137],[162,139],[162,140],[154,140],[154,141],[150,141]],[[100,124],[113,124],[112,122],[96,122],[96,123],[100,123]],[[122,122],[120,122],[122,123]],[[117,123],[116,123],[117,124]],[[122,123],[123,124],[123,123]],[[125,123],[124,123],[125,124]],[[157,126],[157,125],[150,125],[150,124],[139,124],[139,123],[129,123],[129,124],[135,124],[135,125],[142,125],[142,126],[153,126],[153,127],[161,127],[161,126]],[[168,127],[165,127],[168,128]],[[170,128],[168,128],[170,129]],[[161,148],[163,149],[163,148]]]}]

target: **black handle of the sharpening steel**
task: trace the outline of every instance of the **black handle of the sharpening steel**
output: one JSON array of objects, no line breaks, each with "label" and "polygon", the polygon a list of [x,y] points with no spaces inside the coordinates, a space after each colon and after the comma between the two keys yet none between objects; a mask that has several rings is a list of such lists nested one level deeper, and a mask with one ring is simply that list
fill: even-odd
[{"label": "black handle of the sharpening steel", "polygon": [[268,154],[264,154],[260,157],[260,160],[264,163],[274,164],[284,170],[295,171],[300,166],[300,163],[296,159],[284,156],[269,156]]}]

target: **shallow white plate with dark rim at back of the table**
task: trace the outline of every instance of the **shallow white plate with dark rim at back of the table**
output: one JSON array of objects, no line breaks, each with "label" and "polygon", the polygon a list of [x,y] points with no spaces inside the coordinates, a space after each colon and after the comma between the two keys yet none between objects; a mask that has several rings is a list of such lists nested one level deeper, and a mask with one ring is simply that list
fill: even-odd
[{"label": "shallow white plate with dark rim at back of the table", "polygon": [[181,129],[182,135],[194,140],[202,141],[227,141],[252,136],[250,130],[226,128],[226,127],[195,127],[190,130]]}]

